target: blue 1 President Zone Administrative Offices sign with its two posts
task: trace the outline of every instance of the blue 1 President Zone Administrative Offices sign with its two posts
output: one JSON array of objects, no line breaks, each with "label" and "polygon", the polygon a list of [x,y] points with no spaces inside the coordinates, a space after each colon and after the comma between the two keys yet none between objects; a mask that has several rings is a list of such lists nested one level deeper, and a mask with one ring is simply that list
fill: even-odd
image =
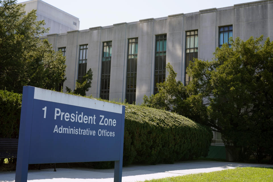
[{"label": "blue 1 President Zone Administrative Offices sign with its two posts", "polygon": [[28,164],[115,161],[121,181],[125,106],[24,86],[15,181]]}]

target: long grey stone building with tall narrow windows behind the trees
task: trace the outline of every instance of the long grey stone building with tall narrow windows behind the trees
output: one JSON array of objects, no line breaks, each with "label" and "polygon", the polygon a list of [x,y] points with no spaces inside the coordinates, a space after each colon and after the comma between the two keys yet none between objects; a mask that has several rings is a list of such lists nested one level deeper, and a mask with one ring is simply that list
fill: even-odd
[{"label": "long grey stone building with tall narrow windows behind the trees", "polygon": [[[43,38],[66,56],[64,88],[75,88],[76,80],[91,68],[87,95],[141,104],[143,96],[156,93],[156,83],[165,80],[166,63],[173,66],[177,80],[187,84],[186,67],[193,57],[211,60],[216,47],[229,43],[229,37],[247,40],[262,34],[273,40],[273,0],[55,32]],[[221,145],[221,136],[215,133],[213,142]]]}]

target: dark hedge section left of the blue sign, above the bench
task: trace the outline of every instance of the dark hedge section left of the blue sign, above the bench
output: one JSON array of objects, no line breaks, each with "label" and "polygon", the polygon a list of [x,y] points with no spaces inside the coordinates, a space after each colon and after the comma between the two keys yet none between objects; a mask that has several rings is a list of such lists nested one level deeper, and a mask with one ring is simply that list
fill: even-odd
[{"label": "dark hedge section left of the blue sign, above the bench", "polygon": [[0,90],[0,136],[18,138],[22,94]]}]

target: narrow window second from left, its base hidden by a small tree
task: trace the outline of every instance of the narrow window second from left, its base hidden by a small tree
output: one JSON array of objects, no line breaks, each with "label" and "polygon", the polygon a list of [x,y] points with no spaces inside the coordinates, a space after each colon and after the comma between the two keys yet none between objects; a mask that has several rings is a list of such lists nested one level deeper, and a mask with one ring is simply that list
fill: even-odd
[{"label": "narrow window second from left, its base hidden by a small tree", "polygon": [[82,77],[86,74],[86,66],[87,66],[87,50],[88,45],[80,46],[79,53],[79,66],[78,66],[78,80],[81,80]]}]

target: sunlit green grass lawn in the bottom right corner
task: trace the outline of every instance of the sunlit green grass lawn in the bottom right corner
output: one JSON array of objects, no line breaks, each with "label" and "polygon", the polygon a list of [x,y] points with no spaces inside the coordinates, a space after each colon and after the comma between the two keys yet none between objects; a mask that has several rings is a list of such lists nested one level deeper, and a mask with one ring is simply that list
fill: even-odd
[{"label": "sunlit green grass lawn in the bottom right corner", "polygon": [[273,181],[273,167],[237,167],[210,173],[198,173],[177,177],[146,180],[145,182],[184,182],[184,181]]}]

